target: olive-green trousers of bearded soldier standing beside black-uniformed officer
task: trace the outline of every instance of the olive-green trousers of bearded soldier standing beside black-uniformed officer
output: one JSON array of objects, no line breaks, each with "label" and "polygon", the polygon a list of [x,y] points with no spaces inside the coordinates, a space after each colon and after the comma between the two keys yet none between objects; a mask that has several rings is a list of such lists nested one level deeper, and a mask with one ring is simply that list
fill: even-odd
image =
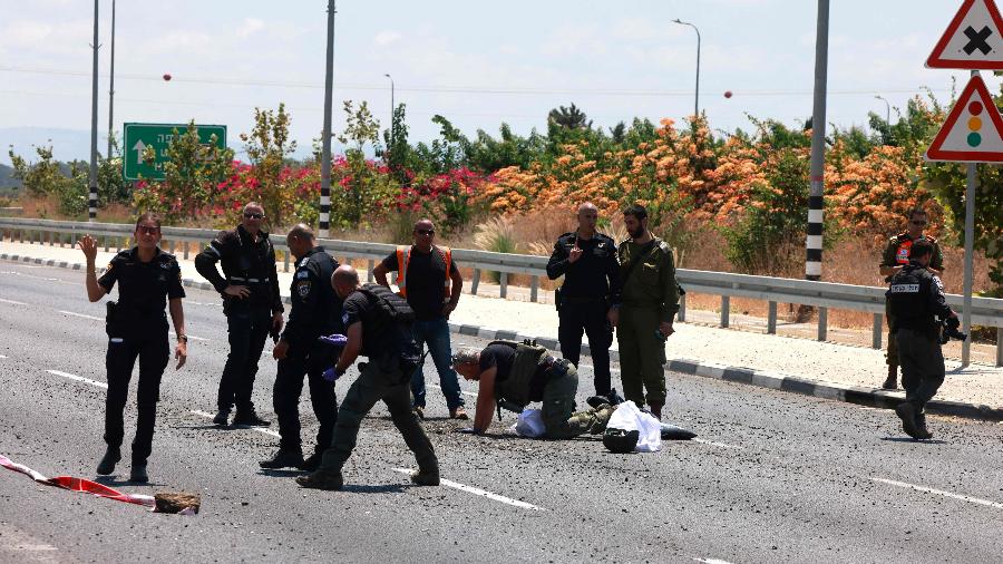
[{"label": "olive-green trousers of bearded soldier standing beside black-uniformed officer", "polygon": [[620,378],[623,397],[641,407],[665,405],[665,341],[655,334],[661,323],[659,308],[623,305],[616,325],[620,344]]}]

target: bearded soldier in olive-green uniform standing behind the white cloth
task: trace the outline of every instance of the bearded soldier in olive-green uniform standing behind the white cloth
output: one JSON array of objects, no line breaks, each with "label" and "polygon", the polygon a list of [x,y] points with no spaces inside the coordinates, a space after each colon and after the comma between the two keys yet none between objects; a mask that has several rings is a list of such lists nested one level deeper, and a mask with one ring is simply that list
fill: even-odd
[{"label": "bearded soldier in olive-green uniform standing behind the white cloth", "polygon": [[665,339],[675,332],[672,320],[679,311],[675,260],[669,245],[647,231],[647,210],[643,206],[624,210],[623,221],[631,239],[617,249],[622,291],[610,310],[620,343],[623,395],[637,406],[646,399],[651,414],[661,419]]}]

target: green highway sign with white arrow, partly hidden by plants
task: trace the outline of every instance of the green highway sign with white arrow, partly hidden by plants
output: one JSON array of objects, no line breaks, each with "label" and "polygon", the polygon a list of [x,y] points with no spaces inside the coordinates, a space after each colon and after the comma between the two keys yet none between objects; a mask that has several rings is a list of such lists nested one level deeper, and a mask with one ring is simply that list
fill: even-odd
[{"label": "green highway sign with white arrow, partly hidden by plants", "polygon": [[[121,175],[127,181],[144,179],[163,181],[164,163],[167,162],[167,147],[176,135],[183,135],[187,130],[187,124],[125,124],[123,127],[123,165]],[[195,125],[198,132],[198,140],[203,145],[212,143],[216,136],[216,146],[226,148],[225,125]],[[155,157],[153,162],[144,162],[147,147],[153,147]]]}]

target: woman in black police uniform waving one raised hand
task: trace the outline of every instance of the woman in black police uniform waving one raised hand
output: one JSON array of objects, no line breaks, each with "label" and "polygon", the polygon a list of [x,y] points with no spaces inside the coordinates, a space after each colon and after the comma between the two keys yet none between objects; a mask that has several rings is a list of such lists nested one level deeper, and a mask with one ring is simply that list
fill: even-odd
[{"label": "woman in black police uniform waving one raised hand", "polygon": [[149,480],[146,460],[153,449],[160,377],[171,360],[165,307],[171,310],[174,331],[177,333],[177,346],[174,349],[176,368],[185,364],[188,338],[185,336],[185,313],[182,307],[185,290],[181,284],[181,268],[174,255],[160,251],[158,246],[160,218],[149,213],[140,215],[134,236],[136,246],[115,255],[100,279],[95,273],[97,242],[87,235],[77,245],[87,259],[87,298],[91,302],[111,292],[118,282],[118,303],[109,303],[106,325],[108,396],[105,402],[105,443],[108,448],[98,464],[97,473],[111,474],[121,459],[121,441],[125,436],[123,410],[128,399],[133,366],[138,358],[138,417],[129,479],[145,483]]}]

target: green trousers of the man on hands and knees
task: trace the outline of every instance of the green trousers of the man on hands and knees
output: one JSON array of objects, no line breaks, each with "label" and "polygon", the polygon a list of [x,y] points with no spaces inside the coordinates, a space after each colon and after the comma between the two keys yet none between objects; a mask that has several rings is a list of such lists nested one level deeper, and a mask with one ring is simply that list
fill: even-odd
[{"label": "green trousers of the man on hands and knees", "polygon": [[[603,406],[574,412],[575,393],[578,391],[578,371],[568,364],[567,373],[547,382],[543,395],[543,420],[548,439],[571,439],[585,432],[593,435],[606,430],[606,424],[615,408]],[[339,416],[340,417],[340,416]]]}]

